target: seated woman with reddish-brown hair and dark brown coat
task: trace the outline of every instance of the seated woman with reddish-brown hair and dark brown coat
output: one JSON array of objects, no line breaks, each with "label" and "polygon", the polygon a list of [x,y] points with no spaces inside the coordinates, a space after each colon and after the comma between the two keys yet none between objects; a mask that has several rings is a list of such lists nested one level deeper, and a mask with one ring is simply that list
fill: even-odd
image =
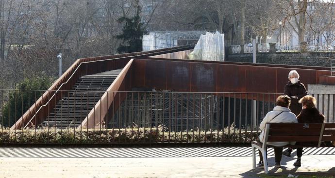
[{"label": "seated woman with reddish-brown hair and dark brown coat", "polygon": [[[321,114],[315,105],[317,104],[317,100],[315,97],[310,95],[304,96],[299,100],[299,103],[302,105],[302,110],[300,114],[297,116],[299,123],[323,123],[324,115]],[[300,143],[301,144],[317,144],[317,143]],[[283,154],[286,156],[291,156],[292,148],[287,148]],[[302,156],[302,148],[297,148],[297,161],[294,162],[293,165],[301,166],[301,156]]]}]

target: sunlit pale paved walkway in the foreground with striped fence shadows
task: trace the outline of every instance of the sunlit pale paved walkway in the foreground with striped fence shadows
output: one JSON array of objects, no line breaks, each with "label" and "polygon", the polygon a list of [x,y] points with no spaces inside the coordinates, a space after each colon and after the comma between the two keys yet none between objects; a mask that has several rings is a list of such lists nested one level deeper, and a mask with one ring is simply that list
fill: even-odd
[{"label": "sunlit pale paved walkway in the foreground with striped fence shadows", "polygon": [[[275,169],[269,149],[272,175],[335,175],[335,148],[308,148],[302,166],[283,156]],[[2,178],[257,178],[252,170],[250,147],[182,148],[11,148],[0,147]]]}]

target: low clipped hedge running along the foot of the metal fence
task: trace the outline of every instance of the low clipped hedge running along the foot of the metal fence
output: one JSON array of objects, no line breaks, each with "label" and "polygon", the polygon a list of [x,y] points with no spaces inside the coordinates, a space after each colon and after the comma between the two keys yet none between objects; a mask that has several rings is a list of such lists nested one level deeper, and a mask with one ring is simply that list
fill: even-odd
[{"label": "low clipped hedge running along the foot of the metal fence", "polygon": [[[164,132],[163,132],[164,131]],[[247,134],[246,134],[247,133]],[[201,143],[201,142],[250,142],[257,133],[225,128],[224,130],[189,130],[168,132],[157,128],[133,129],[6,129],[0,130],[0,144],[112,144],[112,143]]]}]

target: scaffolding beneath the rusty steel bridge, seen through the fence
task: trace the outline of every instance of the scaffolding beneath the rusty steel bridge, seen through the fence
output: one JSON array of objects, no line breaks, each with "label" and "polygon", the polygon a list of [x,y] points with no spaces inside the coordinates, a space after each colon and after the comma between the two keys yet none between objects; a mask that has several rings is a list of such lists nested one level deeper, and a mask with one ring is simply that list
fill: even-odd
[{"label": "scaffolding beneath the rusty steel bridge, seen through the fence", "polygon": [[[218,97],[206,94],[128,94],[109,128],[163,126],[172,131],[217,128]],[[113,114],[112,114],[113,115]],[[210,122],[213,121],[213,122]]]}]

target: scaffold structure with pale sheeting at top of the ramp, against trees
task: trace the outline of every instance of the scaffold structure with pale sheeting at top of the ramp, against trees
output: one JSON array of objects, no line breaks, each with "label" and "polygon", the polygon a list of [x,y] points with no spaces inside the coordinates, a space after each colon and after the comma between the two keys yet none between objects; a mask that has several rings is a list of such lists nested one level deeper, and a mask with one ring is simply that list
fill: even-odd
[{"label": "scaffold structure with pale sheeting at top of the ramp, against trees", "polygon": [[201,34],[213,31],[155,31],[143,35],[143,51],[195,44]]}]

